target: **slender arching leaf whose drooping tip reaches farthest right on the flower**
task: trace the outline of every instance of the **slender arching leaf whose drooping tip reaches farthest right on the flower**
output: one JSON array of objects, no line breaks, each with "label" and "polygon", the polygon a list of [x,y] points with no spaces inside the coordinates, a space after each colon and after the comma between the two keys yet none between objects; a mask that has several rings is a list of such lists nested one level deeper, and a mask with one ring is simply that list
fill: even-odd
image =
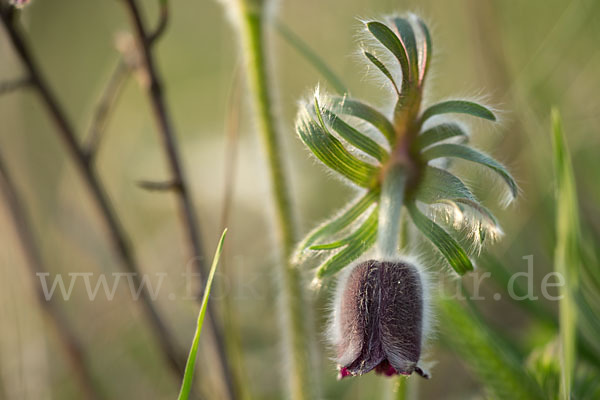
[{"label": "slender arching leaf whose drooping tip reaches farthest right on the flower", "polygon": [[481,153],[471,147],[463,146],[460,144],[444,143],[437,146],[430,147],[421,153],[422,157],[426,161],[435,160],[436,158],[443,157],[455,157],[462,158],[463,160],[471,161],[477,164],[485,165],[498,173],[504,182],[508,185],[513,198],[517,197],[519,188],[512,175],[506,170],[506,168],[498,161],[494,160],[490,156]]}]

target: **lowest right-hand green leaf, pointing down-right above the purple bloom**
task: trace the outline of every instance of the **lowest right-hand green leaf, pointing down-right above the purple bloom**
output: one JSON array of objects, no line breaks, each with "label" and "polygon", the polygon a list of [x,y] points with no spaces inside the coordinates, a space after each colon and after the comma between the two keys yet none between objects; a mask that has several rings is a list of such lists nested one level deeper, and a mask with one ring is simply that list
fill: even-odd
[{"label": "lowest right-hand green leaf, pointing down-right above the purple bloom", "polygon": [[406,202],[406,208],[415,226],[442,253],[450,266],[459,275],[473,270],[473,264],[464,249],[441,226],[427,218],[414,201]]}]

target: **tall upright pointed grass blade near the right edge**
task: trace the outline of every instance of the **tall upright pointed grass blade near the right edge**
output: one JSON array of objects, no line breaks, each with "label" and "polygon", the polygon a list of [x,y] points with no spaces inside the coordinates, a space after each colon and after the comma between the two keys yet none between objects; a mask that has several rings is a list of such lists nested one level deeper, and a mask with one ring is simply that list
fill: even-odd
[{"label": "tall upright pointed grass blade near the right edge", "polygon": [[561,338],[561,398],[571,397],[575,369],[579,268],[579,212],[571,157],[563,135],[560,115],[552,110],[552,144],[556,179],[556,248],[554,269],[564,277],[559,303]]}]

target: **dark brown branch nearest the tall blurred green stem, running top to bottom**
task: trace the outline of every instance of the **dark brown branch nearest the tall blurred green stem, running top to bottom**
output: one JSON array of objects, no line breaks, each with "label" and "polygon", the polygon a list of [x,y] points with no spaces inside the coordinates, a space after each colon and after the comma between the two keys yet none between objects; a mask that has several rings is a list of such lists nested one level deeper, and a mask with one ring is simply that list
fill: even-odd
[{"label": "dark brown branch nearest the tall blurred green stem, running top to bottom", "polygon": [[[166,6],[166,2],[163,2],[162,4],[163,7]],[[172,179],[180,184],[179,190],[176,193],[179,203],[179,212],[185,226],[190,260],[193,261],[194,269],[198,273],[203,276],[207,276],[208,271],[204,263],[200,231],[196,222],[196,210],[194,208],[191,194],[189,192],[189,185],[187,184],[187,179],[184,175],[181,165],[181,157],[177,148],[175,132],[171,123],[170,114],[167,110],[162,84],[159,79],[159,73],[155,66],[154,56],[151,49],[152,37],[147,33],[148,31],[144,25],[144,22],[142,21],[140,9],[138,8],[136,1],[125,0],[125,5],[127,6],[127,10],[134,28],[134,34],[137,37],[138,45],[140,46],[140,50],[142,52],[144,68],[146,69],[147,75],[150,79],[148,96],[152,106],[154,118],[161,135],[163,148],[166,152],[170,173]],[[199,300],[200,296],[197,296],[197,298]],[[215,349],[219,356],[221,374],[225,382],[227,397],[232,399],[235,397],[233,382],[231,379],[232,372],[227,360],[223,336],[220,332],[220,327],[217,324],[215,312],[211,306],[211,303],[208,305],[207,316],[209,320],[209,334],[214,340]]]}]

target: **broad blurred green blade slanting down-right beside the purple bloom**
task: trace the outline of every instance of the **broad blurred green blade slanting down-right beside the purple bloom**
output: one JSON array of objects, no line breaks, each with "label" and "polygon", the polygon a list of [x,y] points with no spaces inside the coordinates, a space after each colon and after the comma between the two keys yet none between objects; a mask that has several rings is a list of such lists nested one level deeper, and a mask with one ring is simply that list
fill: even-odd
[{"label": "broad blurred green blade slanting down-right beside the purple bloom", "polygon": [[491,398],[541,400],[541,389],[528,375],[512,349],[456,300],[440,298],[443,341],[458,353],[485,385]]}]

